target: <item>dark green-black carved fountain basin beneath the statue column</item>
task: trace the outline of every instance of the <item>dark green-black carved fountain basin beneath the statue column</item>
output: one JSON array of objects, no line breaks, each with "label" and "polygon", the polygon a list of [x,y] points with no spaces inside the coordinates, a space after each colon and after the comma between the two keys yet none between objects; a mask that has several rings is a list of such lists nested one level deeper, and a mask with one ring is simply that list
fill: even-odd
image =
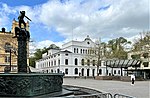
[{"label": "dark green-black carved fountain basin beneath the statue column", "polygon": [[62,73],[0,74],[0,96],[32,97],[62,91]]}]

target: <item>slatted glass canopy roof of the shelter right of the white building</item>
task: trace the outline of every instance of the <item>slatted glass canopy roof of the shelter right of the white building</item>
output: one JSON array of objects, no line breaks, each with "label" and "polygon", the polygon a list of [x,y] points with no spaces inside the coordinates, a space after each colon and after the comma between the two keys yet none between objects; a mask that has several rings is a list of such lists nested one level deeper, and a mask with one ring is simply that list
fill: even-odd
[{"label": "slatted glass canopy roof of the shelter right of the white building", "polygon": [[105,65],[111,68],[140,67],[140,60],[107,60]]}]

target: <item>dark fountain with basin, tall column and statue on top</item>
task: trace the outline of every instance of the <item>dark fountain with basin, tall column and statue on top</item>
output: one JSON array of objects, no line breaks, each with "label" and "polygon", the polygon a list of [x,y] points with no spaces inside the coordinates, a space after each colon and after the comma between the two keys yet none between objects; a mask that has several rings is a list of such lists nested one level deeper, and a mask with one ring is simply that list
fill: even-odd
[{"label": "dark fountain with basin, tall column and statue on top", "polygon": [[[62,73],[28,73],[27,72],[27,41],[30,34],[24,22],[25,11],[20,11],[19,27],[15,27],[18,41],[17,73],[0,74],[0,96],[31,97],[62,91]],[[29,19],[30,20],[30,19]],[[21,25],[24,28],[21,28]]]}]

